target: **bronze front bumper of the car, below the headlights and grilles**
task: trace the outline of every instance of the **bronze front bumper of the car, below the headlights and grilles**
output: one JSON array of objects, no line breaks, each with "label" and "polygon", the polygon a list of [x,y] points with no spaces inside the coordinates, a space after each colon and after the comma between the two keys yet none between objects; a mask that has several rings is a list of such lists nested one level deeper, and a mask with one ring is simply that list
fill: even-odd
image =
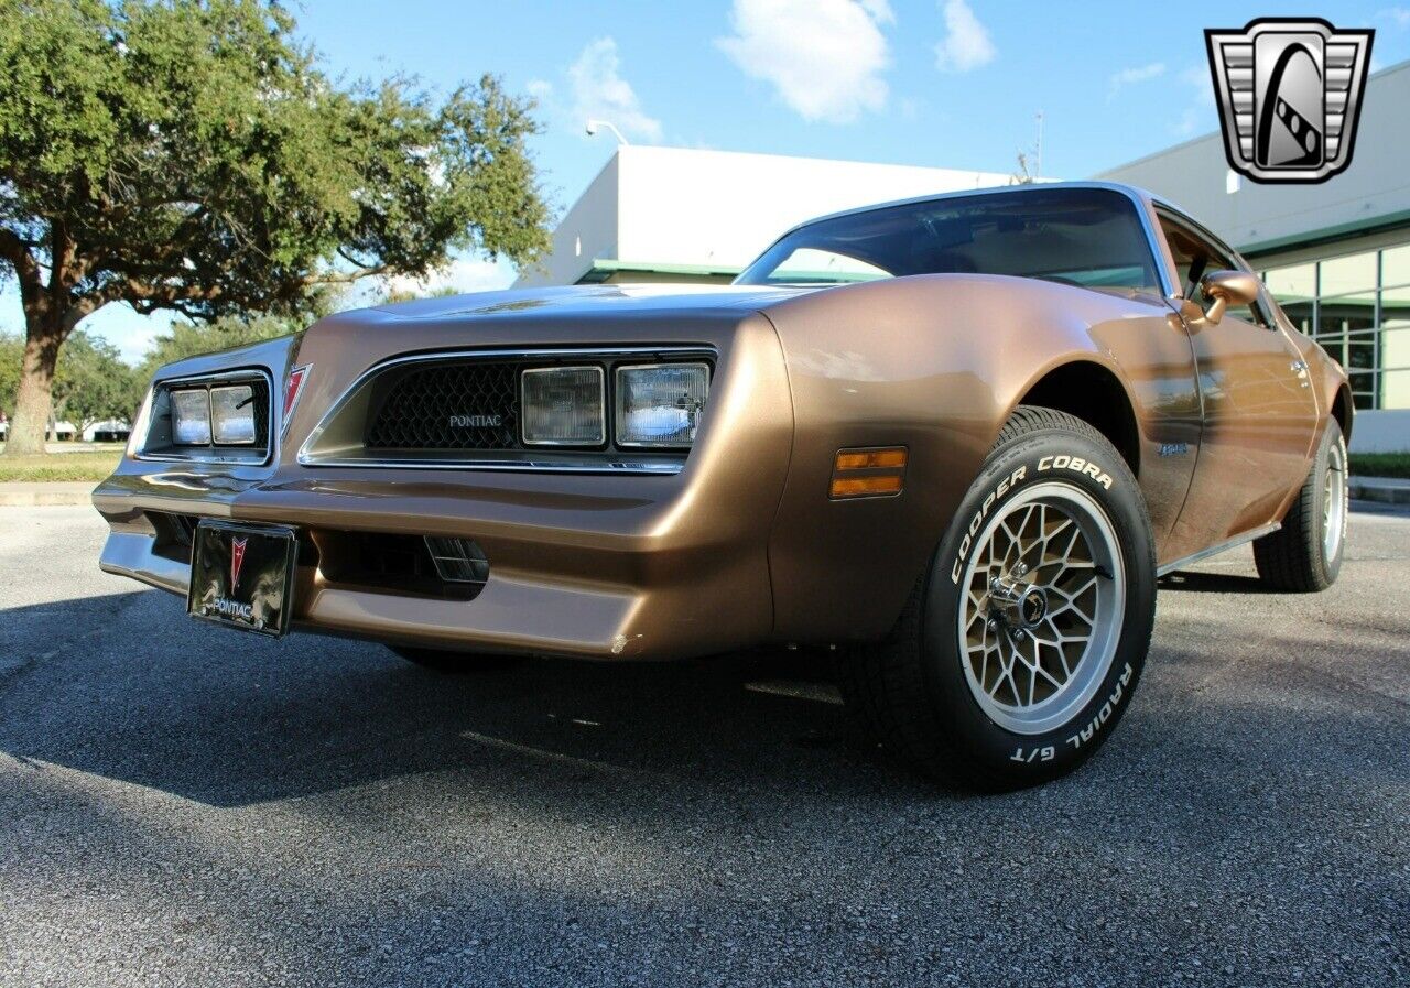
[{"label": "bronze front bumper of the car, below the headlights and grilles", "polygon": [[[398,644],[591,658],[675,658],[766,640],[774,623],[768,531],[792,412],[777,338],[740,331],[711,412],[674,475],[124,459],[93,493],[110,526],[102,568],[185,595],[189,555],[162,519],[296,526],[293,627]],[[279,369],[275,369],[275,379]],[[458,536],[489,560],[472,600],[369,585],[320,564],[350,533]]]}]

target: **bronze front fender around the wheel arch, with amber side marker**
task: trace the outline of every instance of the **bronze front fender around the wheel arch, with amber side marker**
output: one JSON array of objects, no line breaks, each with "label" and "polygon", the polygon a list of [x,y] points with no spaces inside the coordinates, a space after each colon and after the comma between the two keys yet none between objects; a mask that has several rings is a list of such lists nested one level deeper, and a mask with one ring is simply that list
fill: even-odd
[{"label": "bronze front fender around the wheel arch, with amber side marker", "polygon": [[[764,314],[784,350],[795,420],[768,547],[776,634],[787,641],[890,630],[1004,420],[1052,368],[1096,362],[1129,395],[1132,375],[1163,362],[1184,381],[1182,400],[1197,400],[1189,341],[1153,297],[922,275],[816,292]],[[908,448],[902,493],[830,500],[836,451],[870,445]],[[1184,489],[1160,496],[1177,509]]]}]

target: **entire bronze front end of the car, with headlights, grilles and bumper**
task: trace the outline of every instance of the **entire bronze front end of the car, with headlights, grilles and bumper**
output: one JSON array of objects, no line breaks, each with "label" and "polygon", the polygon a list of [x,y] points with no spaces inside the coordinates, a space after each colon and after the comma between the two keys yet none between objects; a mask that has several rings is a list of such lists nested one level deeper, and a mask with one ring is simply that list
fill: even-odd
[{"label": "entire bronze front end of the car, with headlights, grilles and bumper", "polygon": [[[706,654],[773,627],[791,441],[780,342],[750,293],[345,313],[157,375],[93,493],[102,567],[254,630]],[[278,540],[275,599],[279,564],[247,544]]]}]

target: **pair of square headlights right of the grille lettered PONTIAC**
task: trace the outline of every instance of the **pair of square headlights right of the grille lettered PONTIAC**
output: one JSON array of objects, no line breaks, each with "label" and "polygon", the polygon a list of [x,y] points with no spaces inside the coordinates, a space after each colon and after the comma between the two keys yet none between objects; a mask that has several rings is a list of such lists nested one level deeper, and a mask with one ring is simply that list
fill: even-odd
[{"label": "pair of square headlights right of the grille lettered PONTIAC", "polygon": [[[533,368],[520,381],[526,445],[606,443],[606,373],[601,366]],[[618,366],[612,373],[616,445],[689,448],[708,392],[708,364]]]}]

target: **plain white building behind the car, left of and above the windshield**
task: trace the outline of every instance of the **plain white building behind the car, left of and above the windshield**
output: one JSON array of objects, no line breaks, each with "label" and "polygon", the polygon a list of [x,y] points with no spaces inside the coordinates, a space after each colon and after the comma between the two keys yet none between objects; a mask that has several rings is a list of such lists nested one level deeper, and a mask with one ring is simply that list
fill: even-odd
[{"label": "plain white building behind the car, left of and above the windshield", "polygon": [[1005,185],[1008,175],[622,145],[516,288],[728,282],[790,227],[856,206]]}]

